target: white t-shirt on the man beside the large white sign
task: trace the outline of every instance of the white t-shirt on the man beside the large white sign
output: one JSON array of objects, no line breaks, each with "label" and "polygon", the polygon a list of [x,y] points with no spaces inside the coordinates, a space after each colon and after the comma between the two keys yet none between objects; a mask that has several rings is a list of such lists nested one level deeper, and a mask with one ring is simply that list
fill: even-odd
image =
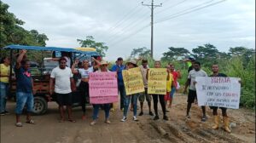
[{"label": "white t-shirt on the man beside the large white sign", "polygon": [[195,69],[193,69],[189,72],[189,77],[188,77],[190,79],[189,89],[191,89],[191,90],[196,90],[195,84],[194,84],[195,77],[207,77],[207,72],[204,72],[202,70],[195,71]]}]

